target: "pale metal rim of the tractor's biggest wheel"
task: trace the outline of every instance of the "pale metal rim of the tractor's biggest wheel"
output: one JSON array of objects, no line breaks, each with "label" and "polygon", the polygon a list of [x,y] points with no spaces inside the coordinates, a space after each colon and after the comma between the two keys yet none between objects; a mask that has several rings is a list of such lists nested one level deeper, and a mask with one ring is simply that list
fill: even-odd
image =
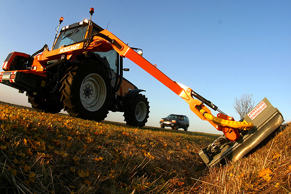
[{"label": "pale metal rim of the tractor's biggest wheel", "polygon": [[80,99],[83,107],[91,112],[99,110],[106,99],[105,81],[96,73],[88,75],[81,84]]}]

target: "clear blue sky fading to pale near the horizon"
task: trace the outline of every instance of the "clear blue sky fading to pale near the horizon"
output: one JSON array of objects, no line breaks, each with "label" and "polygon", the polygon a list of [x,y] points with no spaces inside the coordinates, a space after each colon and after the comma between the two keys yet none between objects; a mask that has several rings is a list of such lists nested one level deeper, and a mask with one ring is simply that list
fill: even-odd
[{"label": "clear blue sky fading to pale near the horizon", "polygon": [[[291,119],[290,0],[10,0],[0,6],[0,59],[12,51],[34,53],[62,26],[90,17],[144,57],[169,78],[191,87],[224,113],[239,120],[235,97],[267,97]],[[170,113],[185,114],[190,131],[221,132],[200,120],[175,93],[129,60],[124,76],[145,89],[150,102],[148,126],[159,127]],[[0,100],[30,106],[25,94],[0,85]],[[216,115],[216,112],[212,112]],[[123,122],[122,113],[106,120]]]}]

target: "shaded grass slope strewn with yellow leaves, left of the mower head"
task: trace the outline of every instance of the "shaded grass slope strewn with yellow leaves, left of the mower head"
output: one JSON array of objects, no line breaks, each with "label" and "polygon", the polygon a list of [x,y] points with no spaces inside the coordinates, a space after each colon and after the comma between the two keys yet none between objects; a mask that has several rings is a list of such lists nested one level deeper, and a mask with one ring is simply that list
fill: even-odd
[{"label": "shaded grass slope strewn with yellow leaves, left of the mower head", "polygon": [[1,194],[193,193],[217,137],[0,110]]}]

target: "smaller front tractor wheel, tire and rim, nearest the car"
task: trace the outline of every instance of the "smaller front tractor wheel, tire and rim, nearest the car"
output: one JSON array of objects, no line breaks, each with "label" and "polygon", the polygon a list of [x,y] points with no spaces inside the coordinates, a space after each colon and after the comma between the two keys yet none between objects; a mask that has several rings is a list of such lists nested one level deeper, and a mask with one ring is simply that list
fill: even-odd
[{"label": "smaller front tractor wheel, tire and rim, nearest the car", "polygon": [[149,102],[145,95],[138,94],[131,105],[125,107],[124,120],[127,125],[144,127],[149,114]]}]

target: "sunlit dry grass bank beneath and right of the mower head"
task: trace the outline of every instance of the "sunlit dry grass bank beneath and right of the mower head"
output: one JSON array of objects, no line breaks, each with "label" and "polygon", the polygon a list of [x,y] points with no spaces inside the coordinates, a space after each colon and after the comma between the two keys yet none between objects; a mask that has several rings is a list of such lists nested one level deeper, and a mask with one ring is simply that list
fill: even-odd
[{"label": "sunlit dry grass bank beneath and right of the mower head", "polygon": [[291,123],[284,128],[248,157],[210,168],[197,193],[291,194]]}]

